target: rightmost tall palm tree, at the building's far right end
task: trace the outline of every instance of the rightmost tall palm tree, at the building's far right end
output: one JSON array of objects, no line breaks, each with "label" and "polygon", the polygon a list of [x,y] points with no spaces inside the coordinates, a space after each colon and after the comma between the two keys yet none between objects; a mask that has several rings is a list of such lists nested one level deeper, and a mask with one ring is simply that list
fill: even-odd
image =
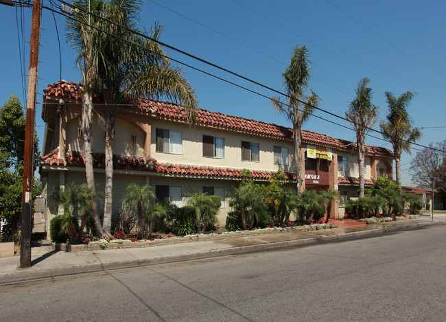
[{"label": "rightmost tall palm tree, at the building's far right end", "polygon": [[381,133],[393,146],[395,153],[395,168],[397,172],[397,183],[401,185],[401,152],[410,153],[410,142],[415,142],[423,135],[419,128],[412,128],[412,118],[407,108],[415,93],[408,91],[396,98],[392,93],[386,91],[386,102],[389,113],[387,120],[381,123]]}]

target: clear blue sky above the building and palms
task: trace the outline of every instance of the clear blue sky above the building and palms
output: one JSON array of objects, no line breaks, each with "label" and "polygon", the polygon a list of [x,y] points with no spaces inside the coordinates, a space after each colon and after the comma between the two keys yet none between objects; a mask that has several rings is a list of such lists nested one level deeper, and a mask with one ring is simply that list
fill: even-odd
[{"label": "clear blue sky above the building and palms", "polygon": [[[159,3],[166,8],[156,5]],[[312,51],[311,86],[322,97],[321,108],[344,115],[353,100],[357,82],[371,79],[374,104],[379,119],[388,112],[384,91],[399,96],[418,93],[409,106],[415,126],[445,126],[446,105],[446,2],[355,1],[355,0],[224,0],[224,1],[145,1],[140,27],[147,30],[159,21],[165,27],[161,41],[183,49],[281,91],[281,73],[290,62],[293,47],[306,45]],[[48,0],[43,5],[49,6]],[[173,12],[173,11],[174,12]],[[175,13],[176,12],[176,13]],[[19,59],[21,9],[0,5],[1,87],[0,104],[15,93],[25,104]],[[187,17],[187,18],[186,18]],[[192,21],[193,20],[193,21]],[[196,21],[196,22],[194,22]],[[80,81],[75,54],[66,42],[64,18],[56,14],[62,51],[62,79]],[[206,27],[204,27],[206,26]],[[58,37],[53,15],[43,10],[38,92],[60,78]],[[31,10],[23,9],[23,36],[30,38]],[[21,28],[19,27],[19,34]],[[29,43],[25,47],[23,69],[27,73]],[[266,89],[213,69],[166,49],[168,56],[209,73],[221,76],[263,95],[276,95]],[[23,59],[23,57],[22,57]],[[264,122],[290,126],[278,115],[268,99],[233,87],[198,71],[184,67],[185,76],[196,90],[200,107]],[[24,78],[25,86],[27,79]],[[38,97],[42,102],[42,97]],[[44,124],[37,107],[36,124],[40,140]],[[333,122],[347,122],[324,113]],[[355,141],[353,131],[316,117],[303,128],[333,137]],[[446,128],[425,128],[419,143],[446,139]],[[374,135],[379,136],[377,133]],[[390,143],[368,137],[367,144],[391,148]],[[416,147],[414,147],[416,148]],[[416,150],[412,152],[412,156]],[[403,185],[410,185],[411,160],[403,154]]]}]

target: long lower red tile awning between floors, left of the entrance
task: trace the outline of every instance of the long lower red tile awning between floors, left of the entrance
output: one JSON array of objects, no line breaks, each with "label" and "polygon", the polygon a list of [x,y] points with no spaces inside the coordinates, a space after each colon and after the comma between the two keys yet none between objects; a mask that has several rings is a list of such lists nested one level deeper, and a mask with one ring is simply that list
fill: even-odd
[{"label": "long lower red tile awning between floors, left of the entrance", "polygon": [[[67,159],[64,160],[59,157],[59,149],[56,148],[52,150],[45,157],[40,158],[40,165],[60,165],[69,167],[85,167],[84,156],[78,152],[67,155]],[[105,155],[103,153],[93,154],[93,167],[94,168],[105,168]],[[233,168],[218,168],[218,167],[208,167],[200,165],[183,165],[183,164],[172,164],[172,163],[158,163],[155,159],[150,158],[149,162],[146,163],[143,158],[134,158],[126,156],[113,156],[113,168],[115,170],[134,170],[134,171],[147,171],[147,172],[158,172],[161,174],[187,174],[193,176],[220,176],[225,178],[242,178],[240,172],[242,169]],[[257,180],[267,180],[270,179],[272,171],[260,171],[260,170],[250,170],[250,174],[253,179]],[[285,174],[288,180],[296,179],[294,174]]]}]

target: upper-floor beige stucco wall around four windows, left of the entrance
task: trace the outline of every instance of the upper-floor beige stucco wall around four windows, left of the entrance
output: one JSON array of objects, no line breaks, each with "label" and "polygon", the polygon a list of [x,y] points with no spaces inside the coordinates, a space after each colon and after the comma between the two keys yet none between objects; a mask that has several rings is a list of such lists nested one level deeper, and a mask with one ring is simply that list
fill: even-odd
[{"label": "upper-floor beige stucco wall around four windows, left of the entrance", "polygon": [[[156,128],[163,128],[165,130],[173,130],[183,133],[183,154],[170,154],[165,152],[156,152]],[[202,136],[212,135],[213,137],[224,138],[225,150],[224,159],[217,159],[211,157],[203,157],[202,154]],[[242,161],[242,141],[250,141],[259,143],[260,156],[259,161]],[[169,122],[152,122],[152,142],[151,150],[152,157],[163,163],[180,163],[186,165],[209,165],[224,168],[246,168],[250,170],[267,170],[277,171],[283,170],[285,172],[292,172],[290,165],[274,164],[274,146],[281,146],[288,148],[290,155],[290,165],[293,163],[292,154],[294,148],[291,141],[281,141],[278,139],[268,139],[263,137],[255,137],[253,135],[246,135],[241,133],[231,133],[227,130],[214,130],[211,128],[203,128],[197,126],[190,129],[188,126],[169,123]]]}]

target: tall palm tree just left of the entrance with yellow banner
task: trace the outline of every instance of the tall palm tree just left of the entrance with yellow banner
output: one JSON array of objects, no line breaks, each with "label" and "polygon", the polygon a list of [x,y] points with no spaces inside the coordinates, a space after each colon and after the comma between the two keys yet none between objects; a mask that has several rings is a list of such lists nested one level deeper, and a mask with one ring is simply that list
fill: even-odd
[{"label": "tall palm tree just left of the entrance with yellow banner", "polygon": [[[305,46],[294,47],[294,54],[291,57],[290,66],[282,74],[285,93],[287,95],[285,103],[280,97],[272,97],[271,104],[279,113],[284,114],[293,124],[294,139],[294,168],[296,169],[297,191],[301,192],[302,185],[302,125],[314,108],[318,106],[320,97],[309,89],[309,78],[312,62],[309,60],[309,49]],[[305,101],[305,102],[303,102]]]}]

